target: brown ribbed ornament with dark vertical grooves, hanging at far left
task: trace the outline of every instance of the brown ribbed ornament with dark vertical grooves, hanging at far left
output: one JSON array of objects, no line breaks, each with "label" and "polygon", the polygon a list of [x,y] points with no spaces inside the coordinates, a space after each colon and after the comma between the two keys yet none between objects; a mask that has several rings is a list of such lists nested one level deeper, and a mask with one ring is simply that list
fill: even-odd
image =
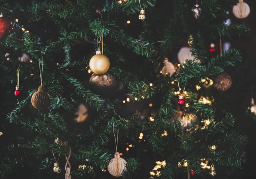
[{"label": "brown ribbed ornament with dark vertical grooves, hanging at far left", "polygon": [[35,109],[44,110],[51,104],[50,95],[43,86],[39,86],[38,91],[32,95],[31,103]]}]

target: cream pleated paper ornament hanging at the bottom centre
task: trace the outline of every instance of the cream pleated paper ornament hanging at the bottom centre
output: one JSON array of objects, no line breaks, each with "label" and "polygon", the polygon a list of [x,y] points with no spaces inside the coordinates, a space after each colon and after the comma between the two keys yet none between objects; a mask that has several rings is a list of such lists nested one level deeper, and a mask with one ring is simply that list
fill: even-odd
[{"label": "cream pleated paper ornament hanging at the bottom centre", "polygon": [[107,165],[108,172],[114,177],[121,177],[126,170],[127,162],[120,157],[119,153],[115,153],[115,158],[109,161]]}]

